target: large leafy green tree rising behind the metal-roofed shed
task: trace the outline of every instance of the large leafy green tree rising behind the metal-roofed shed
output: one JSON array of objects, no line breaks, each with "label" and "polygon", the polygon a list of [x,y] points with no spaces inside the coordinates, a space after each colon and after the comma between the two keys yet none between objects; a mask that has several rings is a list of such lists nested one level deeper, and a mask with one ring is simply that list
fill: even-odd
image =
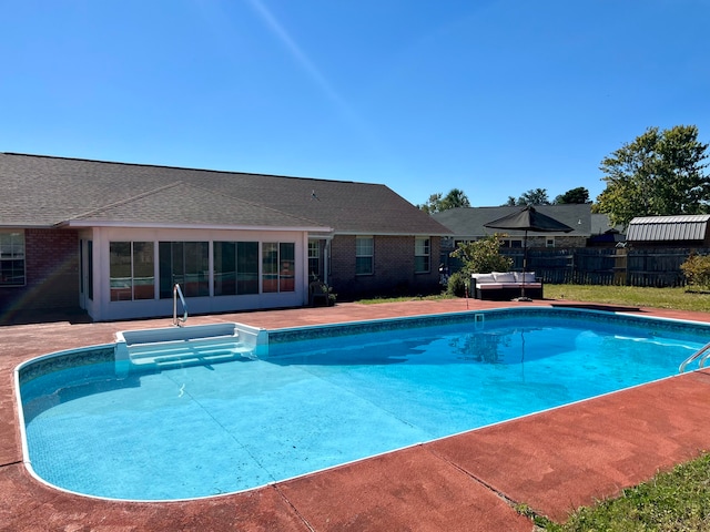
[{"label": "large leafy green tree rising behind the metal-roofed shed", "polygon": [[611,223],[625,226],[635,216],[708,212],[707,149],[694,125],[649,127],[601,161],[607,187],[594,212],[607,213]]}]

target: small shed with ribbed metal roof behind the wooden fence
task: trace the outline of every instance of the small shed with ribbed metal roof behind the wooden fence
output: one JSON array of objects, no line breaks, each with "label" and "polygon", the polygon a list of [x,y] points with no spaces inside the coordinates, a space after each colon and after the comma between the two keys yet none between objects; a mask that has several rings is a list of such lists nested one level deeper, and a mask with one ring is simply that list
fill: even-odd
[{"label": "small shed with ribbed metal roof behind the wooden fence", "polygon": [[631,247],[710,247],[710,215],[641,216],[631,219],[626,239]]}]

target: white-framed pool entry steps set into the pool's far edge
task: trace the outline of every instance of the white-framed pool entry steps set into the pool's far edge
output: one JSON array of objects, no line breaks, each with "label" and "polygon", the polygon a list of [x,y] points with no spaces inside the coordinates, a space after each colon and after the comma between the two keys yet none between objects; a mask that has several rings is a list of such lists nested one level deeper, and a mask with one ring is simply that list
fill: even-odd
[{"label": "white-framed pool entry steps set into the pool's far edge", "polygon": [[256,359],[268,349],[265,329],[234,323],[125,330],[115,337],[115,369],[122,376]]}]

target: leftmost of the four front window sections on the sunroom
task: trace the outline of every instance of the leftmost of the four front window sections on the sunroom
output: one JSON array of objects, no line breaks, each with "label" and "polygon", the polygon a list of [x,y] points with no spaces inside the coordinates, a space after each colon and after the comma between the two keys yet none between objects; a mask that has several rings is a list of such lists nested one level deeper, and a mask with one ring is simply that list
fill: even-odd
[{"label": "leftmost of the four front window sections on the sunroom", "polygon": [[112,242],[109,244],[111,300],[153,299],[155,297],[152,242]]}]

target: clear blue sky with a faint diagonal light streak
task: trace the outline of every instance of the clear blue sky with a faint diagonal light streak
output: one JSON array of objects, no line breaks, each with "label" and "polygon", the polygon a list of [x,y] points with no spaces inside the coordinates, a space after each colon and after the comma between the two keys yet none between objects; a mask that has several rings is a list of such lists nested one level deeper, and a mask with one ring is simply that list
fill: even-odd
[{"label": "clear blue sky with a faint diagonal light streak", "polygon": [[604,190],[649,126],[710,142],[710,0],[2,0],[0,151]]}]

